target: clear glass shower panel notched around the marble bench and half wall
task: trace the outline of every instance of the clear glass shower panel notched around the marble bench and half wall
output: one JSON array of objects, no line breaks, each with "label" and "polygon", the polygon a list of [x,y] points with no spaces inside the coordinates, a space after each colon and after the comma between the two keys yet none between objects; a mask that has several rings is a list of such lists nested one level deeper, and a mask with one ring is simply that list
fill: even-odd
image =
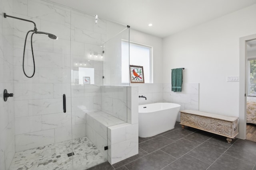
[{"label": "clear glass shower panel notched around the marble bench and half wall", "polygon": [[122,39],[129,40],[126,25],[100,17],[96,20],[95,15],[71,10],[74,169],[87,169],[108,161],[111,156],[108,127],[127,122],[127,88],[114,87],[122,85]]}]

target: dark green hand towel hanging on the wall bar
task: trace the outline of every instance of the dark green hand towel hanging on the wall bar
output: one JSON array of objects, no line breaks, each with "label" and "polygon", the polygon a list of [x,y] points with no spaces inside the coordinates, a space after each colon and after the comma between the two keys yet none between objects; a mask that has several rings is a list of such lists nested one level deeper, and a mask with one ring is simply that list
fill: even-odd
[{"label": "dark green hand towel hanging on the wall bar", "polygon": [[182,68],[172,69],[172,92],[181,92]]}]

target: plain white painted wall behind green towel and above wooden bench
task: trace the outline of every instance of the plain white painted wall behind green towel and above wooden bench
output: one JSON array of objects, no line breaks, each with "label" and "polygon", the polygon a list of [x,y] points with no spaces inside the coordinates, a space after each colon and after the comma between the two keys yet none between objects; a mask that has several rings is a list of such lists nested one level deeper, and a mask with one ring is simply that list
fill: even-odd
[{"label": "plain white painted wall behind green towel and above wooden bench", "polygon": [[[184,83],[199,83],[199,110],[239,116],[239,38],[256,33],[256,4],[163,40],[163,82],[184,67]],[[241,76],[241,75],[240,75]],[[243,76],[243,75],[242,75]]]}]

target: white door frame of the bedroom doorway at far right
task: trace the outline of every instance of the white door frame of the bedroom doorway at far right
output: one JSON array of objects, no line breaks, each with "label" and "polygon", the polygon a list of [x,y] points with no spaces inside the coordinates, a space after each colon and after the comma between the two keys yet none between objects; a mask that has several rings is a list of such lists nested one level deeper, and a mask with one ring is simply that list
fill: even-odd
[{"label": "white door frame of the bedroom doorway at far right", "polygon": [[239,59],[239,134],[240,139],[246,139],[246,42],[256,39],[256,34],[240,38]]}]

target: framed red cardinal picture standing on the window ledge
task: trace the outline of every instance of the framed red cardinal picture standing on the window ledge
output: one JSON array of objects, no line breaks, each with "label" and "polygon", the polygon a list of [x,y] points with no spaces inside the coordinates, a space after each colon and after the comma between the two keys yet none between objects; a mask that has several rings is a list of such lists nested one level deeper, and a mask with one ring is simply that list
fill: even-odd
[{"label": "framed red cardinal picture standing on the window ledge", "polygon": [[143,66],[130,65],[130,82],[144,83]]}]

